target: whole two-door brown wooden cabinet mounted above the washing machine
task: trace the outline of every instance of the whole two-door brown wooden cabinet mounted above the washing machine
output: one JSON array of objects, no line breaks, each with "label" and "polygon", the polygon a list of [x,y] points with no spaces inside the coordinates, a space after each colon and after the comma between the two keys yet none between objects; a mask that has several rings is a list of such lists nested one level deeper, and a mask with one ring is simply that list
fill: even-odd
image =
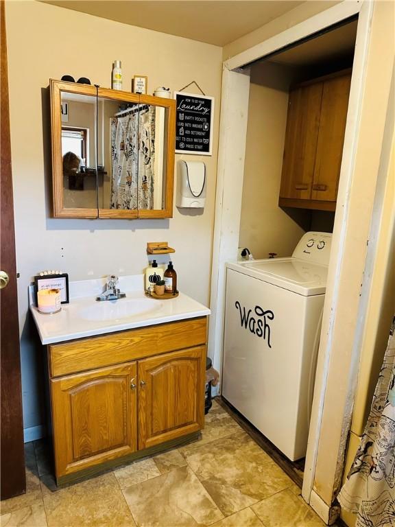
[{"label": "whole two-door brown wooden cabinet mounted above the washing machine", "polygon": [[350,82],[346,70],[289,93],[280,206],[335,210]]}]

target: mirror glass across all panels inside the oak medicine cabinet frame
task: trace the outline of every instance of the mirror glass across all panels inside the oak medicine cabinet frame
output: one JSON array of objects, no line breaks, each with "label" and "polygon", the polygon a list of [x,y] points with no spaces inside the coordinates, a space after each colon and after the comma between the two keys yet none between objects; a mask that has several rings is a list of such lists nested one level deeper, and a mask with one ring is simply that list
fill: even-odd
[{"label": "mirror glass across all panels inside the oak medicine cabinet frame", "polygon": [[62,92],[64,207],[165,207],[167,108]]}]

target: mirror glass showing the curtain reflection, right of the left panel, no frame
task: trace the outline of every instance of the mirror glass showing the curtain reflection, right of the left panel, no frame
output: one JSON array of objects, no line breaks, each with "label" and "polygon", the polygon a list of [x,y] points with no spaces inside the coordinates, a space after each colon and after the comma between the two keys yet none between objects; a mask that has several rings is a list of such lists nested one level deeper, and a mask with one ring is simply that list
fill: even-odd
[{"label": "mirror glass showing the curtain reflection, right of the left panel, no frame", "polygon": [[98,169],[101,209],[162,209],[166,109],[98,99]]}]

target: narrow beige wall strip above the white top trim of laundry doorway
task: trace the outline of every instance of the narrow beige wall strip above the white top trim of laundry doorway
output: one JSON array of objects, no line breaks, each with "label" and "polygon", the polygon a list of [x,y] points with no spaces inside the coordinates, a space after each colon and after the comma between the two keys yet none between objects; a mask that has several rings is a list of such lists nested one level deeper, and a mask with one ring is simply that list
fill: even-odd
[{"label": "narrow beige wall strip above the white top trim of laundry doorway", "polygon": [[301,5],[298,5],[298,7],[292,9],[291,11],[283,14],[282,16],[278,16],[271,22],[259,27],[257,30],[241,36],[232,43],[224,46],[223,58],[224,60],[228,60],[228,58],[241,53],[241,51],[245,51],[256,44],[263,42],[263,40],[267,40],[267,38],[288,30],[290,27],[309,19],[315,14],[331,8],[337,3],[339,3],[339,0],[308,0]]}]

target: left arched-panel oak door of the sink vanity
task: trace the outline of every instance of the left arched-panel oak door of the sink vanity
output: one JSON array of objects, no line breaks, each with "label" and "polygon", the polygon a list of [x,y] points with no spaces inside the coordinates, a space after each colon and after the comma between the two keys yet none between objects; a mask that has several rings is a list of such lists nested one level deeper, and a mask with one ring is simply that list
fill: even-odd
[{"label": "left arched-panel oak door of the sink vanity", "polygon": [[136,450],[136,362],[51,380],[56,477]]}]

